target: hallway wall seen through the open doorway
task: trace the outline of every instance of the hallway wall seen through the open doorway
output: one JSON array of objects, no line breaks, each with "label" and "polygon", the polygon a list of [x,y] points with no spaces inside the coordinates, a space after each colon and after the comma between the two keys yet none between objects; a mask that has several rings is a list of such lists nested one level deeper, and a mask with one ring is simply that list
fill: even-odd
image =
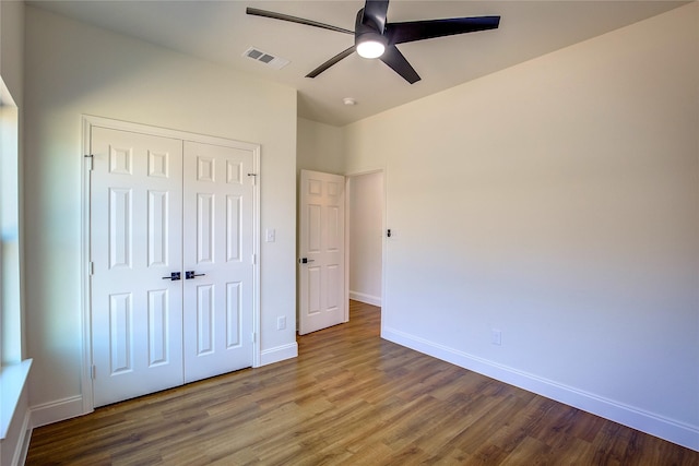
[{"label": "hallway wall seen through the open doorway", "polygon": [[348,178],[350,299],[381,306],[383,172]]}]

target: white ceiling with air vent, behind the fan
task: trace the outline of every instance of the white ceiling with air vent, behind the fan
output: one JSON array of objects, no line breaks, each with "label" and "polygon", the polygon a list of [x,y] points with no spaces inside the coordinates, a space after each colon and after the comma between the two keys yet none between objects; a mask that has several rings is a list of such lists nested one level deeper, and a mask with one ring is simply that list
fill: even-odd
[{"label": "white ceiling with air vent, behind the fan", "polygon": [[[500,15],[500,27],[403,44],[422,76],[411,85],[378,60],[356,53],[316,79],[309,71],[352,46],[354,37],[245,13],[254,7],[354,29],[355,1],[29,1],[28,4],[222,63],[298,89],[298,115],[343,126],[544,53],[660,14],[687,1],[393,0],[388,21]],[[259,48],[291,63],[281,70],[242,53]],[[345,106],[344,97],[357,105]]]}]

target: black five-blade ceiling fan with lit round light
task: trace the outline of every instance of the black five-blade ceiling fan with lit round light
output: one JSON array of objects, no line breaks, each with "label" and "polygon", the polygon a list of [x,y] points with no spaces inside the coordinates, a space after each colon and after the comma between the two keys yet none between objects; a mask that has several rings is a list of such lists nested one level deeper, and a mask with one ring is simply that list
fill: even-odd
[{"label": "black five-blade ceiling fan with lit round light", "polygon": [[288,14],[258,10],[257,8],[248,8],[246,12],[256,16],[289,21],[292,23],[354,35],[354,45],[352,47],[332,57],[308,73],[306,77],[316,77],[343,58],[356,51],[364,58],[380,59],[411,84],[416,83],[420,77],[405,57],[403,57],[403,53],[395,47],[398,44],[495,29],[500,24],[500,16],[451,17],[446,20],[389,23],[386,20],[388,9],[389,0],[367,0],[364,8],[357,12],[354,31],[319,23],[317,21],[305,20],[303,17],[291,16]]}]

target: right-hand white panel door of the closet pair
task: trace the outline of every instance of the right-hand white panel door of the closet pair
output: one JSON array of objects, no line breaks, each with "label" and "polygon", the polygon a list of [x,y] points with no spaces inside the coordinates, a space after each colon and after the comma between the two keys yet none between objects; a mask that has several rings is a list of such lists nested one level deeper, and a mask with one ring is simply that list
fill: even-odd
[{"label": "right-hand white panel door of the closet pair", "polygon": [[253,153],[185,142],[187,382],[250,367]]}]

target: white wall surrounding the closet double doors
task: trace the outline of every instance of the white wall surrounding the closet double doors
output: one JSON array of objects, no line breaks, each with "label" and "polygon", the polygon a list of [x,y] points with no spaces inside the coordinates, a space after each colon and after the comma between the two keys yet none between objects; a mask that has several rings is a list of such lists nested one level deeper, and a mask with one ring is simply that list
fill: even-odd
[{"label": "white wall surrounding the closet double doors", "polygon": [[32,7],[26,9],[25,249],[29,403],[81,410],[81,115],[261,144],[261,346],[296,356],[296,92]]}]

